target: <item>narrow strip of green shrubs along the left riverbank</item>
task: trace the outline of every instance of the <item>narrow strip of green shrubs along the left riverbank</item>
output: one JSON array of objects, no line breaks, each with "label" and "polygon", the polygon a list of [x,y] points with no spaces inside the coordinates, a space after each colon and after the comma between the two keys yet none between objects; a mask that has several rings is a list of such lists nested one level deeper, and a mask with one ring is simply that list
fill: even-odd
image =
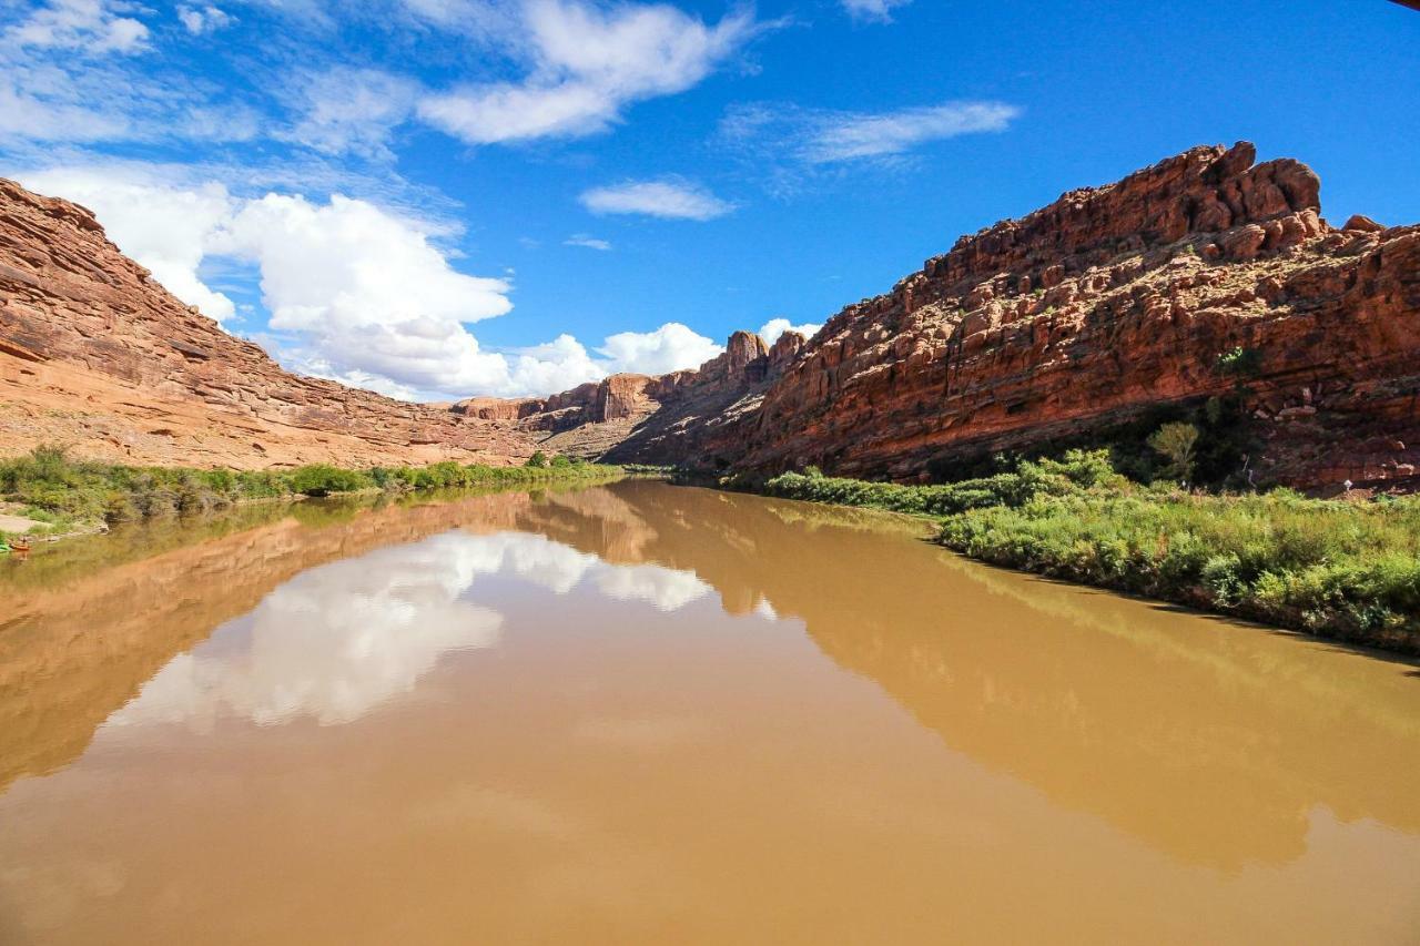
[{"label": "narrow strip of green shrubs along the left riverbank", "polygon": [[0,500],[21,516],[70,531],[82,523],[121,523],[173,513],[204,513],[233,503],[361,490],[426,490],[517,486],[604,479],[621,467],[537,453],[525,466],[460,464],[351,470],[325,463],[293,470],[197,470],[75,460],[64,447],[40,446],[0,462]]}]

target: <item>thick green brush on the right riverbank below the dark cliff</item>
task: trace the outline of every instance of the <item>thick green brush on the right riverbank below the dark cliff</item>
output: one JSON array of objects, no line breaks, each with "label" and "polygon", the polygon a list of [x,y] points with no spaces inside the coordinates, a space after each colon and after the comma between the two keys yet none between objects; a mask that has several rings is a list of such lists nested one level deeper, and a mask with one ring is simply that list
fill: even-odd
[{"label": "thick green brush on the right riverbank below the dark cliff", "polygon": [[1135,483],[1106,450],[941,486],[787,473],[771,496],[941,520],[983,561],[1314,634],[1420,651],[1420,497],[1315,500]]}]

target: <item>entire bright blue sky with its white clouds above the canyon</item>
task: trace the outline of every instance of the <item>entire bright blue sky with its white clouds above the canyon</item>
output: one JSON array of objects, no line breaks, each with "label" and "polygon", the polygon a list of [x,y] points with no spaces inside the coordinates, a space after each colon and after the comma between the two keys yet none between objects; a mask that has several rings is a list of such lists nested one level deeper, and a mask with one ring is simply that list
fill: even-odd
[{"label": "entire bright blue sky with its white clouds above the canyon", "polygon": [[690,366],[1196,143],[1420,222],[1384,0],[0,0],[0,173],[405,398]]}]

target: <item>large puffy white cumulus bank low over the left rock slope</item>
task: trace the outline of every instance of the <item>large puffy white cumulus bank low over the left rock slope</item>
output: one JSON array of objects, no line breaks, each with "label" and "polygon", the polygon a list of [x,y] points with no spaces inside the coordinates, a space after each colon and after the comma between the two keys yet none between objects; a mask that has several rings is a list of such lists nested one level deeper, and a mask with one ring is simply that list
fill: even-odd
[{"label": "large puffy white cumulus bank low over the left rock slope", "polygon": [[693,368],[720,352],[670,322],[618,332],[599,348],[572,335],[486,351],[469,325],[513,308],[506,278],[470,276],[437,241],[439,223],[339,193],[240,197],[217,182],[165,180],[125,168],[21,173],[43,193],[88,205],[125,253],[178,298],[229,320],[231,298],[200,268],[236,261],[260,274],[261,341],[287,366],[389,396],[551,393],[629,371]]}]

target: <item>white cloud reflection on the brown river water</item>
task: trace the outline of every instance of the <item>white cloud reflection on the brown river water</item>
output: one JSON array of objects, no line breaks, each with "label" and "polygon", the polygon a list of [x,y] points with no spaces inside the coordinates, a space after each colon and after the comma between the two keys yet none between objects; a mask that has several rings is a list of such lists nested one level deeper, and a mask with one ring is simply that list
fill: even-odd
[{"label": "white cloud reflection on the brown river water", "polygon": [[354,722],[413,690],[444,655],[498,642],[503,615],[469,591],[480,575],[500,574],[558,595],[585,585],[659,611],[710,592],[693,572],[612,565],[544,535],[450,531],[297,575],[240,619],[239,636],[173,658],[108,724]]}]

